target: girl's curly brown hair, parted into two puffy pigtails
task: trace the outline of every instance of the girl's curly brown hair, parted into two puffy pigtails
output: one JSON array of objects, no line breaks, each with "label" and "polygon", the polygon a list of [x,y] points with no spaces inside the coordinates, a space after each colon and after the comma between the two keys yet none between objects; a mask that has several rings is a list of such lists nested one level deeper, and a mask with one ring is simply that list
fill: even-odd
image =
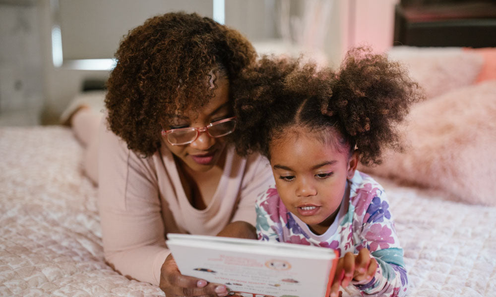
[{"label": "girl's curly brown hair, parted into two puffy pigtails", "polygon": [[370,49],[350,50],[340,69],[317,69],[298,59],[263,56],[243,71],[234,90],[237,150],[270,158],[269,145],[285,128],[332,127],[363,164],[381,162],[385,146],[401,149],[395,124],[422,98],[397,62]]}]

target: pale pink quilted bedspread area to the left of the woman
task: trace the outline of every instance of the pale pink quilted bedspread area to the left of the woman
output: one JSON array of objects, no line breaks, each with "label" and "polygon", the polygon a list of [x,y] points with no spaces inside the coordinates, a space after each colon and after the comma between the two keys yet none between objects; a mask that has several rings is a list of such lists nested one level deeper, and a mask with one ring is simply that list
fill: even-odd
[{"label": "pale pink quilted bedspread area to the left of the woman", "polygon": [[105,263],[82,152],[67,128],[0,128],[0,296],[164,296]]}]

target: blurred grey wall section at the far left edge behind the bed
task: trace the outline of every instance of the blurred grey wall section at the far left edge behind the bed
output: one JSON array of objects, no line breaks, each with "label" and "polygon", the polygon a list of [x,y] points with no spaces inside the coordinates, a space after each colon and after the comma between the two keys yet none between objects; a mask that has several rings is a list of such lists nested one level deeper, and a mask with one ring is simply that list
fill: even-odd
[{"label": "blurred grey wall section at the far left edge behind the bed", "polygon": [[0,125],[39,123],[43,83],[38,17],[34,1],[0,1]]}]

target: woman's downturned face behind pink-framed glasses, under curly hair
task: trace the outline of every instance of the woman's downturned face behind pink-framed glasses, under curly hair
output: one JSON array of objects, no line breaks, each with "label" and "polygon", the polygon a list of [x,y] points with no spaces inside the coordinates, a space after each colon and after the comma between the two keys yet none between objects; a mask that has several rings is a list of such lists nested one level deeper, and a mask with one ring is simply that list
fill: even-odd
[{"label": "woman's downturned face behind pink-framed glasses, under curly hair", "polygon": [[[200,110],[185,112],[185,117],[176,117],[166,129],[185,127],[203,128],[211,122],[232,116],[232,107],[229,102],[229,81],[225,78],[217,81],[215,97],[205,104]],[[173,146],[164,137],[165,145],[192,171],[208,171],[220,160],[226,142],[223,137],[213,138],[206,132],[201,132],[195,141],[187,145]]]}]

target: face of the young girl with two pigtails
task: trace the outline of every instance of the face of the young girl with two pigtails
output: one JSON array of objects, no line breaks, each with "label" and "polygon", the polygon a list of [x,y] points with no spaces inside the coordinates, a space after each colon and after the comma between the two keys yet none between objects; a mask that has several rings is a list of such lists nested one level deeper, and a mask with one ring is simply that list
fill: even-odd
[{"label": "face of the young girl with two pigtails", "polygon": [[[329,136],[336,132],[328,130]],[[322,133],[293,127],[270,143],[270,164],[277,191],[286,208],[316,234],[334,221],[346,189],[355,174],[358,154],[335,141],[319,141]]]}]

